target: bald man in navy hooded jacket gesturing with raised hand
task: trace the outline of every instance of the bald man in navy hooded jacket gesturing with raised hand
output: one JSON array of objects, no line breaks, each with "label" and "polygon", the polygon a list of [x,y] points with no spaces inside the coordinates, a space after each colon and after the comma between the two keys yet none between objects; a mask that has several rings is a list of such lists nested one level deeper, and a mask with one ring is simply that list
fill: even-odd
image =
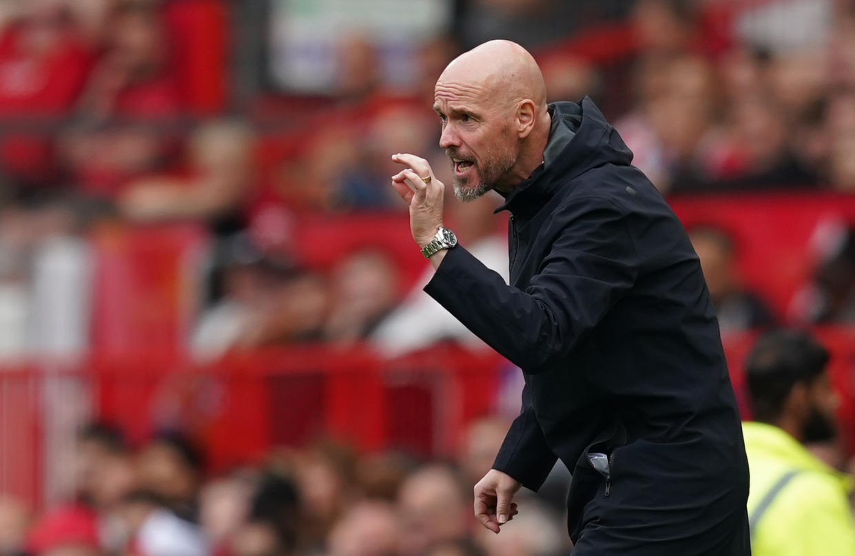
[{"label": "bald man in navy hooded jacket gesturing with raised hand", "polygon": [[748,556],[745,446],[698,257],[591,99],[545,98],[507,41],[459,56],[434,92],[457,198],[497,191],[510,211],[510,286],[443,227],[428,162],[392,157],[435,268],[425,291],[525,377],[475,515],[498,533],[561,458],[575,556]]}]

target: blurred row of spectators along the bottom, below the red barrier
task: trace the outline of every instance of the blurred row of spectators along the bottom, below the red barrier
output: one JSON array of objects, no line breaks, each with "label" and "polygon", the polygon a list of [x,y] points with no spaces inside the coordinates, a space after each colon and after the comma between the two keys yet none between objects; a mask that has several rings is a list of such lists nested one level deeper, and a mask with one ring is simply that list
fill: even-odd
[{"label": "blurred row of spectators along the bottom, below the red barrier", "polygon": [[[136,449],[103,423],[80,431],[76,492],[33,514],[0,496],[4,556],[557,556],[557,497],[523,495],[501,536],[472,517],[472,485],[508,423],[472,423],[455,459],[357,456],[346,444],[280,448],[259,466],[204,475],[202,452],[162,432]],[[546,488],[548,490],[549,487]]]}]

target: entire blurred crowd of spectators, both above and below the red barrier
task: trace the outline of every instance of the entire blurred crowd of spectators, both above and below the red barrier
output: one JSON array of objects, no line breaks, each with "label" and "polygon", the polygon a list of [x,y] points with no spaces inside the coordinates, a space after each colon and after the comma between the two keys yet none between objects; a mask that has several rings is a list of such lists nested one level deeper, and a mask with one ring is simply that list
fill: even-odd
[{"label": "entire blurred crowd of spectators, both above and below the red barrier", "polygon": [[[551,100],[591,96],[666,196],[855,192],[851,0],[449,0],[445,33],[414,39],[408,82],[387,83],[370,33],[348,33],[333,52],[336,82],[316,95],[263,86],[267,55],[247,59],[239,43],[266,32],[245,28],[251,4],[261,3],[0,0],[0,358],[86,352],[93,235],[119,245],[117,230],[174,222],[209,239],[192,259],[182,339],[197,358],[306,342],[367,341],[389,357],[442,340],[483,347],[422,294],[427,267],[410,280],[371,246],[318,267],[300,242],[307,219],[354,214],[402,216],[396,233],[407,234],[390,155],[426,157],[450,182],[433,84],[490,38],[533,50]],[[251,98],[244,66],[262,68]],[[448,223],[507,279],[499,200],[450,198]],[[689,232],[722,332],[855,322],[855,228],[823,236],[786,311],[742,283],[728,230]],[[568,553],[563,485],[521,501],[498,537],[470,516],[471,487],[506,426],[473,423],[451,461],[325,441],[206,477],[181,435],[132,447],[92,424],[78,439],[72,502],[33,513],[0,498],[0,554]]]}]

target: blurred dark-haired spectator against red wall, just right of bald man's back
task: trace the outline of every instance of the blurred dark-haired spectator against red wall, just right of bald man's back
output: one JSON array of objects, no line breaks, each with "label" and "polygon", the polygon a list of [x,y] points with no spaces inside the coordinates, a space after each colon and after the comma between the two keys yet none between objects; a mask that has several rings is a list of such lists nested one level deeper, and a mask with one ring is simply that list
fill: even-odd
[{"label": "blurred dark-haired spectator against red wall, just right of bald man's back", "polygon": [[763,299],[740,285],[735,245],[728,233],[721,228],[697,226],[690,228],[688,234],[698,253],[722,334],[774,324],[775,317]]}]

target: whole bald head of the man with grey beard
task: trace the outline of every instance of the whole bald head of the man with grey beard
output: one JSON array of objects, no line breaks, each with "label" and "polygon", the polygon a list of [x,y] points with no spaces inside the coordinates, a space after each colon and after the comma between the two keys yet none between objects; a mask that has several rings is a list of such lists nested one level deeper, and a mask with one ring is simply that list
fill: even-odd
[{"label": "whole bald head of the man with grey beard", "polygon": [[457,56],[439,76],[433,99],[457,198],[510,192],[543,160],[550,128],[546,86],[519,44],[492,40]]}]

